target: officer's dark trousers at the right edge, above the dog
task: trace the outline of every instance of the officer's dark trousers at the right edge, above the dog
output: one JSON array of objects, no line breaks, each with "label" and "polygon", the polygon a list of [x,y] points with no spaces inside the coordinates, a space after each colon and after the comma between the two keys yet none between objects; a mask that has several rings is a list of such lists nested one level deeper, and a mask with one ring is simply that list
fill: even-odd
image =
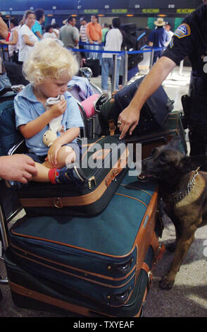
[{"label": "officer's dark trousers at the right edge, above the dog", "polygon": [[207,172],[207,95],[193,95],[189,143],[190,155],[206,155],[206,163],[201,166],[201,170]]}]

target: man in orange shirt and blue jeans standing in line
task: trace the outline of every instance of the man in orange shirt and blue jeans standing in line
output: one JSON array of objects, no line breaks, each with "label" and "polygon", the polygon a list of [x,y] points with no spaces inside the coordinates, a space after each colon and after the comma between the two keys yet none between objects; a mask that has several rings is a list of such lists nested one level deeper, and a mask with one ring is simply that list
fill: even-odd
[{"label": "man in orange shirt and blue jeans standing in line", "polygon": [[[89,44],[93,44],[89,47],[92,51],[99,50],[99,44],[102,40],[102,29],[98,23],[99,17],[96,15],[91,16],[91,22],[87,23],[87,38]],[[99,59],[99,54],[96,52],[89,53],[89,58]]]}]

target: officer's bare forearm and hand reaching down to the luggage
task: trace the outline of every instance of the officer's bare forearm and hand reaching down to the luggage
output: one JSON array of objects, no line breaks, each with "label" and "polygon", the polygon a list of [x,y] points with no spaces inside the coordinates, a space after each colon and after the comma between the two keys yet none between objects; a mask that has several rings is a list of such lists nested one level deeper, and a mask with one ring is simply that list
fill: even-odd
[{"label": "officer's bare forearm and hand reaching down to the luggage", "polygon": [[154,64],[151,71],[139,85],[130,105],[128,105],[119,115],[118,120],[121,121],[120,139],[127,134],[129,129],[129,133],[132,135],[132,131],[134,131],[139,122],[139,114],[142,106],[146,100],[155,93],[175,66],[175,62],[168,57],[161,57],[156,64]]}]

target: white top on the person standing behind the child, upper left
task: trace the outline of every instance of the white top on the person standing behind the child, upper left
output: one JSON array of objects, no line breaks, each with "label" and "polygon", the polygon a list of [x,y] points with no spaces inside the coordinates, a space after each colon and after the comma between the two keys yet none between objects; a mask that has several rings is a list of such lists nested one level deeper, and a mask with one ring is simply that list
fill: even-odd
[{"label": "white top on the person standing behind the child, upper left", "polygon": [[25,59],[27,59],[27,54],[32,49],[32,46],[25,44],[23,35],[27,35],[31,42],[38,42],[38,38],[35,35],[35,33],[33,33],[32,30],[30,30],[30,28],[24,24],[19,30],[19,43],[20,43],[19,61],[25,61]]}]

